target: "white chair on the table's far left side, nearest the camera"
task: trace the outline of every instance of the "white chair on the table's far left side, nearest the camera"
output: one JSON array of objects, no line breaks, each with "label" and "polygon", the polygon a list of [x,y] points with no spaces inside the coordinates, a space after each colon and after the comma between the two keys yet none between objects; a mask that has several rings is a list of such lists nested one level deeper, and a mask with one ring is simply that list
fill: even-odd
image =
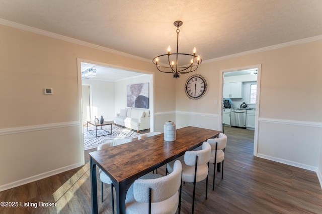
[{"label": "white chair on the table's far left side, nearest the camera", "polygon": [[[111,142],[106,142],[106,143],[102,143],[100,144],[98,147],[97,147],[97,150],[102,150],[102,149],[106,149],[106,148],[109,148],[109,147],[112,147],[112,146],[117,146],[117,145],[120,145],[120,144],[124,144],[124,143],[128,143],[128,142],[131,142],[132,139],[129,139],[129,138],[124,138],[124,139],[114,139],[112,140]],[[99,178],[101,180],[101,183],[102,183],[102,202],[103,202],[103,183],[107,183],[109,185],[111,185],[111,197],[112,197],[112,212],[114,214],[114,196],[113,196],[113,182],[111,180],[111,178],[102,170],[100,169],[99,170]]]}]

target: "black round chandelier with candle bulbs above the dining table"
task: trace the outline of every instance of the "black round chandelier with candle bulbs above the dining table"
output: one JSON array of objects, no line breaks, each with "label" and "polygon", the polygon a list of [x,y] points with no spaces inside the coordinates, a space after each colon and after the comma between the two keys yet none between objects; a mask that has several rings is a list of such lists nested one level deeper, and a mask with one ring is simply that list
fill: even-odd
[{"label": "black round chandelier with candle bulbs above the dining table", "polygon": [[[183,23],[182,21],[176,21],[173,24],[177,27],[177,53],[171,53],[169,46],[168,54],[154,57],[152,62],[160,72],[173,73],[173,78],[179,78],[180,74],[187,74],[197,70],[202,60],[199,56],[196,56],[196,48],[193,49],[193,54],[178,53],[179,27],[182,26]],[[179,61],[181,66],[178,65]]]}]

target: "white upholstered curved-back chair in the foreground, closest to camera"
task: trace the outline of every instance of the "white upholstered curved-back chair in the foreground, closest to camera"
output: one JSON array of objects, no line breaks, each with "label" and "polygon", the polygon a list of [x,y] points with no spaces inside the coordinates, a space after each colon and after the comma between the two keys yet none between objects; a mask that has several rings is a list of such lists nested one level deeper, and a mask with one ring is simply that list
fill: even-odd
[{"label": "white upholstered curved-back chair in the foreground, closest to camera", "polygon": [[174,163],[173,172],[166,175],[148,173],[135,180],[126,194],[127,214],[180,213],[182,164]]}]

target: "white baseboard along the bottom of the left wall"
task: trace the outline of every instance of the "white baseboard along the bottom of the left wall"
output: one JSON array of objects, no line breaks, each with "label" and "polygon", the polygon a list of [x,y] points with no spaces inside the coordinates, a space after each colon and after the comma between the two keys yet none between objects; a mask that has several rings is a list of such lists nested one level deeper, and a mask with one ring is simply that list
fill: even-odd
[{"label": "white baseboard along the bottom of the left wall", "polygon": [[34,182],[36,180],[40,180],[40,179],[43,179],[43,178],[46,178],[46,177],[50,177],[52,175],[65,172],[65,171],[80,167],[82,165],[83,164],[81,162],[79,162],[79,163],[75,163],[75,164],[72,164],[72,165],[69,165],[69,166],[64,166],[64,167],[61,167],[61,168],[58,168],[58,169],[54,169],[54,170],[51,170],[51,171],[48,171],[48,172],[44,172],[44,173],[41,173],[41,174],[38,174],[38,175],[27,177],[27,178],[24,178],[24,179],[21,179],[21,180],[17,180],[17,181],[11,182],[11,183],[7,183],[7,184],[4,184],[4,185],[0,186],[0,192],[4,191],[4,190],[7,190],[7,189],[17,187],[17,186],[24,185],[26,183],[31,183],[31,182]]}]

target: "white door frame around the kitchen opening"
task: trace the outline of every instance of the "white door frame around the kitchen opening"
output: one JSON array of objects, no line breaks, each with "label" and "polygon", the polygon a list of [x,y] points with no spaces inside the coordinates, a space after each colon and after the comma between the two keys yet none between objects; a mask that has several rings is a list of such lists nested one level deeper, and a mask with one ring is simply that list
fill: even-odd
[{"label": "white door frame around the kitchen opening", "polygon": [[[238,67],[238,68],[229,68],[229,69],[222,69],[220,70],[220,78],[219,78],[219,100],[223,100],[223,75],[226,72],[232,72],[232,71],[242,71],[242,70],[248,70],[248,69],[257,69],[257,95],[256,95],[256,112],[255,112],[255,130],[254,130],[254,156],[257,156],[258,152],[258,125],[259,125],[259,112],[260,112],[260,89],[261,89],[261,69],[262,64],[258,65],[251,65],[251,66],[245,66],[245,67]],[[221,102],[220,102],[221,103]],[[218,127],[222,127],[222,108],[219,108],[219,124]]]}]

